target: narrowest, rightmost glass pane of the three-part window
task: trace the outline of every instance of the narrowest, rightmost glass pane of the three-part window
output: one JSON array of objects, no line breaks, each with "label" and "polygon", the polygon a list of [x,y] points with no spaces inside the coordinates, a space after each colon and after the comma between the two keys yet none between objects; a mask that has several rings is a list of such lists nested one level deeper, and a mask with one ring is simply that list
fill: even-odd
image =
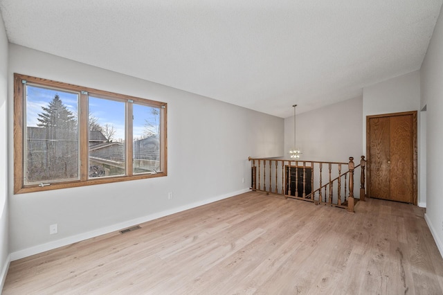
[{"label": "narrowest, rightmost glass pane of the three-part window", "polygon": [[161,109],[133,105],[134,174],[160,172]]}]

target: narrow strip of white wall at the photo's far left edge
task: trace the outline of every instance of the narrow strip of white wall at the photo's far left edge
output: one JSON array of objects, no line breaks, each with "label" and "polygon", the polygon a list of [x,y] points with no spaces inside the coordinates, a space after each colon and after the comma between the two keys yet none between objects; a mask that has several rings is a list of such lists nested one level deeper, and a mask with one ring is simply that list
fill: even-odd
[{"label": "narrow strip of white wall at the photo's far left edge", "polygon": [[9,266],[8,249],[8,39],[0,15],[0,290]]}]

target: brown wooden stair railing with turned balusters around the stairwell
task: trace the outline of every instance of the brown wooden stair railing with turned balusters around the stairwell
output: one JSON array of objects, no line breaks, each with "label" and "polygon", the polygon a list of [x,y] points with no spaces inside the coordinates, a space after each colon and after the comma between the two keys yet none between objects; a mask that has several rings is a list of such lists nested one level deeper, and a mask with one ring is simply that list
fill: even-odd
[{"label": "brown wooden stair railing with turned balusters around the stairwell", "polygon": [[[359,165],[354,166],[353,157],[350,157],[348,163],[248,157],[251,161],[251,190],[347,208],[348,211],[354,212],[354,170],[357,168],[361,170],[360,200],[365,198],[364,158],[362,156]],[[348,170],[342,173],[343,165],[347,165]],[[325,174],[329,175],[329,179],[325,181],[326,184],[322,184]]]}]

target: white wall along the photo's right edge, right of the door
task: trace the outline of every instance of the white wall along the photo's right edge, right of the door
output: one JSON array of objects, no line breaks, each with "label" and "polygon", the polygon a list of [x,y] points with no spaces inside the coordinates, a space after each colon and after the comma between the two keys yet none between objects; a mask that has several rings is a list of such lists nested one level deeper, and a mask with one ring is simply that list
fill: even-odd
[{"label": "white wall along the photo's right edge, right of the door", "polygon": [[[443,9],[443,8],[442,8]],[[443,256],[443,15],[437,19],[421,69],[422,100],[426,105],[426,222]]]}]

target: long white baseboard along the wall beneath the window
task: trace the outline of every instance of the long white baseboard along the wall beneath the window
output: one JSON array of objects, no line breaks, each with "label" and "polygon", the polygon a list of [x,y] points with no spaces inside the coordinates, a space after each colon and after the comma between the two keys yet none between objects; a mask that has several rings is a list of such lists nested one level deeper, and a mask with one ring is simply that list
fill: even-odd
[{"label": "long white baseboard along the wall beneath the window", "polygon": [[174,213],[179,213],[181,211],[186,211],[186,210],[191,209],[191,208],[195,208],[195,207],[198,207],[198,206],[202,206],[202,205],[210,204],[210,203],[213,203],[213,202],[217,202],[217,201],[219,201],[221,199],[227,199],[228,197],[233,197],[235,195],[240,195],[242,193],[247,193],[249,190],[250,190],[249,188],[244,188],[243,190],[237,190],[236,192],[233,192],[233,193],[228,193],[228,194],[225,194],[225,195],[220,195],[220,196],[213,197],[213,198],[210,198],[210,199],[204,199],[203,201],[187,204],[187,205],[180,206],[180,207],[177,207],[177,208],[172,208],[172,209],[169,209],[169,210],[161,211],[159,213],[154,213],[154,214],[150,214],[150,215],[147,215],[147,216],[144,216],[144,217],[139,217],[139,218],[136,218],[134,220],[128,220],[126,222],[120,222],[118,224],[114,224],[114,225],[111,225],[111,226],[102,227],[101,229],[96,229],[96,230],[93,230],[93,231],[87,231],[86,233],[80,233],[78,235],[71,235],[71,237],[68,237],[68,238],[63,238],[63,239],[56,240],[56,241],[53,241],[53,242],[48,242],[46,244],[39,244],[39,245],[34,246],[34,247],[30,247],[30,248],[27,248],[27,249],[23,249],[23,250],[19,250],[19,251],[16,251],[16,252],[12,252],[12,253],[10,253],[10,261],[18,260],[18,259],[25,258],[25,257],[28,257],[28,256],[33,256],[35,254],[42,253],[44,251],[56,249],[56,248],[59,248],[59,247],[63,247],[63,246],[66,246],[66,245],[69,245],[69,244],[73,244],[75,242],[80,242],[80,241],[83,241],[83,240],[87,240],[87,239],[90,239],[90,238],[95,238],[95,237],[97,237],[99,235],[105,235],[106,233],[112,233],[114,231],[119,231],[120,229],[125,229],[127,227],[134,226],[136,224],[141,224],[143,222],[148,222],[150,220],[155,220],[155,219],[160,218],[160,217],[164,217],[164,216],[171,215],[171,214],[174,214]]}]

